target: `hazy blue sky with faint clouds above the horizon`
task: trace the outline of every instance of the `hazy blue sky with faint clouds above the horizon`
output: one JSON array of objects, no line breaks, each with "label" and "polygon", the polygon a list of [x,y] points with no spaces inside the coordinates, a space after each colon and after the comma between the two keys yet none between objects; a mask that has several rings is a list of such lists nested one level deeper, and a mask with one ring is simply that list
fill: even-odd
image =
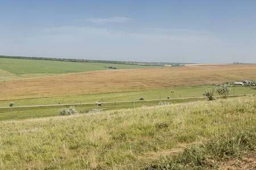
[{"label": "hazy blue sky with faint clouds above the horizon", "polygon": [[0,55],[256,63],[256,1],[0,0]]}]

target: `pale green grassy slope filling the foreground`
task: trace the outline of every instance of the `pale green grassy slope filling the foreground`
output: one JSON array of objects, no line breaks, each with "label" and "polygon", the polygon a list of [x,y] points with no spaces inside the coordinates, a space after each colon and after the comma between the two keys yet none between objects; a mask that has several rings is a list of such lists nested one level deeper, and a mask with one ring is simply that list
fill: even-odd
[{"label": "pale green grassy slope filling the foreground", "polygon": [[255,114],[256,98],[246,96],[3,121],[0,168],[218,168],[256,149]]}]

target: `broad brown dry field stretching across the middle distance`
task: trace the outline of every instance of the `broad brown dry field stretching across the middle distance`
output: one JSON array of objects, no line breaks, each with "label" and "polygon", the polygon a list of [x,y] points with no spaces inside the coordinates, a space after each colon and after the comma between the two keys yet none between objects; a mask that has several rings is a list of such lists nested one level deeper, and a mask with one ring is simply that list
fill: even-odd
[{"label": "broad brown dry field stretching across the middle distance", "polygon": [[256,65],[195,65],[102,70],[0,82],[0,100],[106,94],[255,80]]}]

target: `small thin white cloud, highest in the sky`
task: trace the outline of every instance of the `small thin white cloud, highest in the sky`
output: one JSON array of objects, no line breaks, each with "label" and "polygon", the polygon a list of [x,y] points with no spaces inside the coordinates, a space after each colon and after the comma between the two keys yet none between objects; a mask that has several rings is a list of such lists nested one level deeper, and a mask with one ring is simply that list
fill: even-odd
[{"label": "small thin white cloud, highest in the sky", "polygon": [[[132,20],[131,18],[125,18],[125,17],[112,17],[112,18],[88,18],[85,19],[85,21],[92,22],[92,23],[124,23],[128,22],[129,20]],[[84,20],[80,20],[84,21]]]}]

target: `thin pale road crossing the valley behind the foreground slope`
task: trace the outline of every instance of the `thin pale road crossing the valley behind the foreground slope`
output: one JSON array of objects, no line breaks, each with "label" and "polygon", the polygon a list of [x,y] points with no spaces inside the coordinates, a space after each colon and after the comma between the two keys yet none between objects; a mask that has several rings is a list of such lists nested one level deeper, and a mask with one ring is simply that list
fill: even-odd
[{"label": "thin pale road crossing the valley behind the foreground slope", "polygon": [[[247,94],[250,95],[250,94]],[[244,96],[244,95],[229,95],[229,96]],[[213,96],[213,97],[220,97],[220,96]],[[48,107],[48,106],[59,106],[59,105],[84,105],[84,104],[98,104],[98,103],[127,103],[127,102],[135,102],[135,101],[157,101],[157,100],[178,100],[178,99],[198,99],[198,98],[205,98],[204,97],[183,97],[183,98],[174,98],[174,99],[152,99],[152,100],[130,100],[130,101],[106,101],[106,102],[94,102],[94,103],[75,103],[75,104],[49,104],[49,105],[26,105],[20,107],[13,107],[13,108],[29,108],[29,107]],[[0,109],[5,109],[10,107],[0,107]]]}]

